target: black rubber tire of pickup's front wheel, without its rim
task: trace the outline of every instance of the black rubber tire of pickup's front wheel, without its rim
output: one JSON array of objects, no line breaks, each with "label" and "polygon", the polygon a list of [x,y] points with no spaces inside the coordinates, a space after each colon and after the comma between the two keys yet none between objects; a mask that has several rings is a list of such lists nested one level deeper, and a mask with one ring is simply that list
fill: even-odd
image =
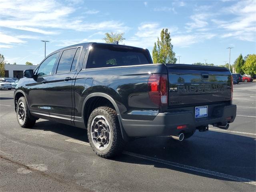
[{"label": "black rubber tire of pickup's front wheel, without its rim", "polygon": [[[23,121],[20,121],[19,119],[19,114],[18,114],[18,107],[20,105],[20,103],[23,103],[24,104],[24,110],[25,110],[25,115],[24,115],[24,120]],[[35,125],[36,123],[36,118],[34,118],[31,114],[30,114],[30,111],[28,109],[28,104],[26,102],[26,99],[25,97],[20,97],[18,99],[18,102],[17,102],[17,109],[16,109],[16,117],[17,117],[17,120],[18,120],[18,123],[20,124],[21,127],[23,128],[31,128]]]}]

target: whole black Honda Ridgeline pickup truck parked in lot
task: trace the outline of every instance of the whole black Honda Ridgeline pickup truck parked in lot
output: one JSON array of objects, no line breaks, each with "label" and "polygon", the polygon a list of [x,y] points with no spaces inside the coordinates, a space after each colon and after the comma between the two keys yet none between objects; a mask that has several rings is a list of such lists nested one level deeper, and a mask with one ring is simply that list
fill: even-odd
[{"label": "whole black Honda Ridgeline pickup truck parked in lot", "polygon": [[227,129],[236,117],[227,68],[153,64],[147,49],[82,43],[48,55],[24,71],[14,92],[18,123],[39,118],[87,129],[98,156],[109,158],[134,138],[184,140]]}]

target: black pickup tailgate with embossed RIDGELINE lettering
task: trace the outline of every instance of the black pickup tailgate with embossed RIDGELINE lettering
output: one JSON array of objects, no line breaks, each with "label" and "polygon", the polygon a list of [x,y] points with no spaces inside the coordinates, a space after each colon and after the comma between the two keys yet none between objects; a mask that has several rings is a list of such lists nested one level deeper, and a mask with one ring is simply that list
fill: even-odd
[{"label": "black pickup tailgate with embossed RIDGELINE lettering", "polygon": [[169,106],[197,105],[231,100],[232,78],[227,68],[166,64]]}]

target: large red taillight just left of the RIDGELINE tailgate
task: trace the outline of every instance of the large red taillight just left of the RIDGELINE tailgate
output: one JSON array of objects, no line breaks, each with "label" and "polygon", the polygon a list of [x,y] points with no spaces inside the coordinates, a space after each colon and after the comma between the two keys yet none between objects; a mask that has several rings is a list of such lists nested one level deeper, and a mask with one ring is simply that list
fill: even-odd
[{"label": "large red taillight just left of the RIDGELINE tailgate", "polygon": [[148,78],[149,97],[158,106],[167,105],[168,83],[167,75],[153,74]]}]

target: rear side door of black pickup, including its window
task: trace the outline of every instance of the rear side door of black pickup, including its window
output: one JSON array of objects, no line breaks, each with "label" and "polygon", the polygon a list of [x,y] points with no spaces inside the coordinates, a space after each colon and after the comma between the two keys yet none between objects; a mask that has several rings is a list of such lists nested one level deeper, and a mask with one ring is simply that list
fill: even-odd
[{"label": "rear side door of black pickup, including its window", "polygon": [[47,95],[50,118],[71,124],[74,108],[74,78],[80,47],[63,50],[54,74],[48,82]]}]

